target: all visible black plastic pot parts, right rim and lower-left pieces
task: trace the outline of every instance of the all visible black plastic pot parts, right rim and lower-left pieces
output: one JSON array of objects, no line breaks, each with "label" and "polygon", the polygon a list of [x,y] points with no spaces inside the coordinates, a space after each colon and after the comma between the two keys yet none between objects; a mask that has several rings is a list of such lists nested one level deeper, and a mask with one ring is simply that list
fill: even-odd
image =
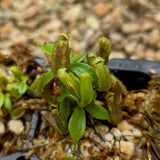
[{"label": "all visible black plastic pot parts, right rim and lower-left pieces", "polygon": [[[34,59],[34,62],[40,67],[44,67],[44,60]],[[46,67],[48,69],[48,67]],[[108,63],[110,71],[118,77],[128,90],[138,90],[146,88],[151,79],[151,70],[154,70],[160,76],[160,63],[146,60],[112,59]],[[39,121],[39,115],[35,112],[31,120],[31,130],[29,136],[34,138]],[[31,142],[28,142],[31,146]],[[16,152],[14,154],[0,157],[0,160],[24,160],[26,153]],[[30,160],[40,160],[33,155]]]}]

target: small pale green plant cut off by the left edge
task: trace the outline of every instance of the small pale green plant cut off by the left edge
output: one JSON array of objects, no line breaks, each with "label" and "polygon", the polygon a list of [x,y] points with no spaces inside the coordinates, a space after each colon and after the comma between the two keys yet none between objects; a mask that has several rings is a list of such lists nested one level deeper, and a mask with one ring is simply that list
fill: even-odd
[{"label": "small pale green plant cut off by the left edge", "polygon": [[0,116],[3,117],[4,107],[12,118],[20,118],[24,114],[22,107],[12,108],[12,99],[21,98],[28,89],[28,76],[15,66],[10,67],[13,76],[6,77],[0,73]]}]

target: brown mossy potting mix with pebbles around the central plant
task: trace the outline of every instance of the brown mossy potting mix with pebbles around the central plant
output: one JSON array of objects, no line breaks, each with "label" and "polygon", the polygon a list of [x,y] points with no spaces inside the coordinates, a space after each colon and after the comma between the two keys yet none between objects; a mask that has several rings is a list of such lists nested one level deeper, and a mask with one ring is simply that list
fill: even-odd
[{"label": "brown mossy potting mix with pebbles around the central plant", "polygon": [[[3,69],[7,71],[8,66],[16,65],[30,77],[28,83],[31,83],[37,74],[44,72],[33,59],[34,57],[24,47],[13,49],[9,57],[1,55]],[[42,160],[62,160],[66,156],[68,159],[75,156],[77,160],[158,160],[160,159],[159,101],[160,78],[156,75],[152,76],[147,88],[126,90],[120,102],[122,121],[115,126],[88,116],[86,131],[77,145],[77,153],[74,154],[70,135],[60,135],[54,130],[48,118],[49,110],[45,100],[27,92],[22,99],[14,102],[14,107],[24,104],[27,106],[25,114],[20,118],[24,125],[24,130],[20,134],[15,135],[9,130],[8,121],[11,117],[8,114],[0,118],[5,125],[5,133],[0,135],[0,154],[27,151],[27,158],[36,153]],[[101,101],[97,103],[103,104]],[[29,121],[34,111],[38,111],[41,120],[35,137],[30,137]],[[33,145],[25,145],[22,148],[27,139]]]}]

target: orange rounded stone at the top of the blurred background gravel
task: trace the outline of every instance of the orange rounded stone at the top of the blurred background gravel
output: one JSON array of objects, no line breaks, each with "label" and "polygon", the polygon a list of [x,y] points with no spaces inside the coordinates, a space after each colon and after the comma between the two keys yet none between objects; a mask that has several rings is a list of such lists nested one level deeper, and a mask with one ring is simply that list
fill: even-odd
[{"label": "orange rounded stone at the top of the blurred background gravel", "polygon": [[99,3],[96,4],[93,7],[93,12],[99,16],[99,17],[103,17],[104,15],[106,15],[109,12],[109,7],[107,3]]}]

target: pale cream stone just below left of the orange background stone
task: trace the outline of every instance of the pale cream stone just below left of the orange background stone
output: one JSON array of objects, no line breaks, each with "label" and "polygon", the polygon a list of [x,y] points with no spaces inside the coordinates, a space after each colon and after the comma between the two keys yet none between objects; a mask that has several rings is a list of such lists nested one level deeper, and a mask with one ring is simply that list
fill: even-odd
[{"label": "pale cream stone just below left of the orange background stone", "polygon": [[93,30],[99,30],[100,29],[100,23],[96,16],[88,16],[86,18],[86,24],[89,28]]}]

